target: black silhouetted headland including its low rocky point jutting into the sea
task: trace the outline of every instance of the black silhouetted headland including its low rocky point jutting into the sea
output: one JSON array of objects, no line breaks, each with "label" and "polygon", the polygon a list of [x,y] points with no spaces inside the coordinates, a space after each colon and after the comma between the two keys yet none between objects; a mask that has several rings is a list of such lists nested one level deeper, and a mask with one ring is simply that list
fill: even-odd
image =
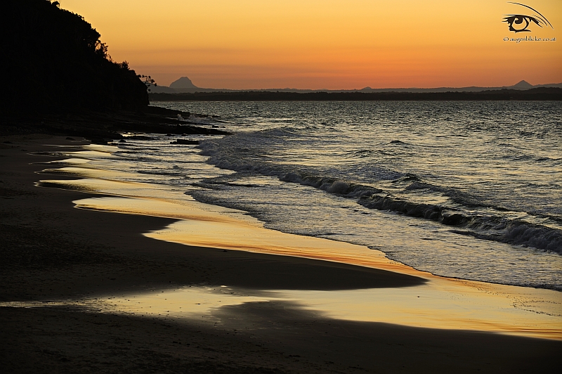
[{"label": "black silhouetted headland including its low rocky point jutting into the sea", "polygon": [[96,141],[121,138],[120,131],[224,134],[178,126],[178,112],[149,107],[147,86],[136,72],[126,61],[113,61],[96,29],[58,1],[18,0],[2,8],[0,134]]}]

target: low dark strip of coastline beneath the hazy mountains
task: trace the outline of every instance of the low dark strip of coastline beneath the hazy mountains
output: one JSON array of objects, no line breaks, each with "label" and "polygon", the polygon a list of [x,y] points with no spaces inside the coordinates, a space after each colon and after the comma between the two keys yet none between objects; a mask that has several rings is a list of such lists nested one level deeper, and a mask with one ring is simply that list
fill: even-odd
[{"label": "low dark strip of coastline beneath the hazy mountains", "polygon": [[562,101],[562,88],[488,89],[445,92],[196,91],[149,93],[152,101]]}]

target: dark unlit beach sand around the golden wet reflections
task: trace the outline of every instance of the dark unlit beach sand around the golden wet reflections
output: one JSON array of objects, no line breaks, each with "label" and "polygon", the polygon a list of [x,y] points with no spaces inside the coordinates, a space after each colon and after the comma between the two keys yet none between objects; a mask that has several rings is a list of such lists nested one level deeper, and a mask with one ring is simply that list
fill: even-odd
[{"label": "dark unlit beach sand around the golden wet reflections", "polygon": [[[30,163],[56,158],[30,153],[53,150],[43,145],[55,143],[73,142],[0,139],[1,302],[183,285],[345,290],[424,281],[146,238],[141,233],[172,220],[74,209],[72,200],[88,194],[34,186],[45,179],[34,174],[45,165]],[[0,315],[4,373],[554,373],[562,349],[554,340],[339,321],[280,301],[218,309],[214,316],[223,323],[215,328],[71,306],[1,307]]]}]

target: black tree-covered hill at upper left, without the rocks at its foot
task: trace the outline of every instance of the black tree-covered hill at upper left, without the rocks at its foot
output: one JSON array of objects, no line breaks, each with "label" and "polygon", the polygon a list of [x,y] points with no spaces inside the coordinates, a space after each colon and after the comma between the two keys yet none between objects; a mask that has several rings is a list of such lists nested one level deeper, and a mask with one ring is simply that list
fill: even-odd
[{"label": "black tree-covered hill at upper left, without the rocks at its foot", "polygon": [[148,105],[141,79],[115,63],[100,34],[57,1],[3,3],[2,112],[66,112]]}]

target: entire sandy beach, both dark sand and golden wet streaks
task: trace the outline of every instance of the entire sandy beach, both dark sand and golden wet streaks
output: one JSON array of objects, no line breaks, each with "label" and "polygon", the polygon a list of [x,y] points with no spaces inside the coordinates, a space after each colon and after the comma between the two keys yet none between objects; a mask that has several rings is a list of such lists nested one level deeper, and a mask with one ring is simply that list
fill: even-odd
[{"label": "entire sandy beach, both dark sand and golden wet streaks", "polygon": [[88,158],[111,147],[9,141],[0,149],[8,369],[556,368],[561,292],[433,276],[360,245],[271,231],[182,191],[124,183]]}]

